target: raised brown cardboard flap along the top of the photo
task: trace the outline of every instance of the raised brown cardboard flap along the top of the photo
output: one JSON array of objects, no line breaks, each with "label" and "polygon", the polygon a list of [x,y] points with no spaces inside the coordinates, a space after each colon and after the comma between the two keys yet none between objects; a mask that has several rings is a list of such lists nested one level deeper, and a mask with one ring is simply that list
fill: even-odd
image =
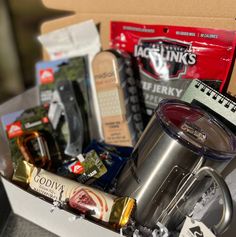
[{"label": "raised brown cardboard flap along the top of the photo", "polygon": [[159,15],[231,18],[235,20],[234,0],[43,0],[48,8],[90,14]]}]

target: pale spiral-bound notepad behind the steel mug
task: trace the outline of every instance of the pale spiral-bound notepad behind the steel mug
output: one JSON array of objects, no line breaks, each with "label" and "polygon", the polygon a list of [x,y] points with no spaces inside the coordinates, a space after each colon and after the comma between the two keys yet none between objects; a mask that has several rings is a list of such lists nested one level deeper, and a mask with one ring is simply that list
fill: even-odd
[{"label": "pale spiral-bound notepad behind the steel mug", "polygon": [[193,80],[181,100],[199,105],[236,133],[236,103],[200,80]]}]

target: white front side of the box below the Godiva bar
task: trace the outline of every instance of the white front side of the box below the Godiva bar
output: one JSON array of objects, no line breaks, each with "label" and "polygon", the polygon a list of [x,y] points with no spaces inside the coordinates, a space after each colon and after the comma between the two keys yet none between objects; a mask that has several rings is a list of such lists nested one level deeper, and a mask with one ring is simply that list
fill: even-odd
[{"label": "white front side of the box below the Godiva bar", "polygon": [[119,234],[105,229],[61,209],[53,212],[52,204],[37,198],[2,178],[13,212],[51,231],[58,236],[118,237]]}]

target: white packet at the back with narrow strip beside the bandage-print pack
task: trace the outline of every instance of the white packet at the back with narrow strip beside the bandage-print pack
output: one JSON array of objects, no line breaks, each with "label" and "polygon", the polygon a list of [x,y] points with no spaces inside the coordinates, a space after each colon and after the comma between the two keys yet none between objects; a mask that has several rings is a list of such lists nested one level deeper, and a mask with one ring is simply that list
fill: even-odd
[{"label": "white packet at the back with narrow strip beside the bandage-print pack", "polygon": [[[63,40],[61,40],[63,38]],[[89,124],[91,137],[102,139],[103,132],[99,112],[98,99],[96,94],[94,76],[92,72],[92,60],[100,51],[101,43],[99,33],[93,20],[69,25],[38,37],[44,46],[51,60],[80,57],[87,55],[89,72],[89,103],[91,116]],[[91,119],[91,121],[90,121]]]}]

